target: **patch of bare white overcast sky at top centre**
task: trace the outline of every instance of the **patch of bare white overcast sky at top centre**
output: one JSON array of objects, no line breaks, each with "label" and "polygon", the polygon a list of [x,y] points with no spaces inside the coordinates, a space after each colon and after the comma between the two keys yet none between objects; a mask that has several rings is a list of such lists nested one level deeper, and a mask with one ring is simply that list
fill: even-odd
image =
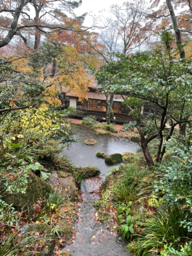
[{"label": "patch of bare white overcast sky at top centre", "polygon": [[84,12],[88,12],[88,16],[84,20],[84,26],[90,27],[93,24],[91,16],[109,16],[108,13],[111,5],[121,5],[125,0],[82,0],[82,5],[75,9],[76,15],[81,15]]}]

